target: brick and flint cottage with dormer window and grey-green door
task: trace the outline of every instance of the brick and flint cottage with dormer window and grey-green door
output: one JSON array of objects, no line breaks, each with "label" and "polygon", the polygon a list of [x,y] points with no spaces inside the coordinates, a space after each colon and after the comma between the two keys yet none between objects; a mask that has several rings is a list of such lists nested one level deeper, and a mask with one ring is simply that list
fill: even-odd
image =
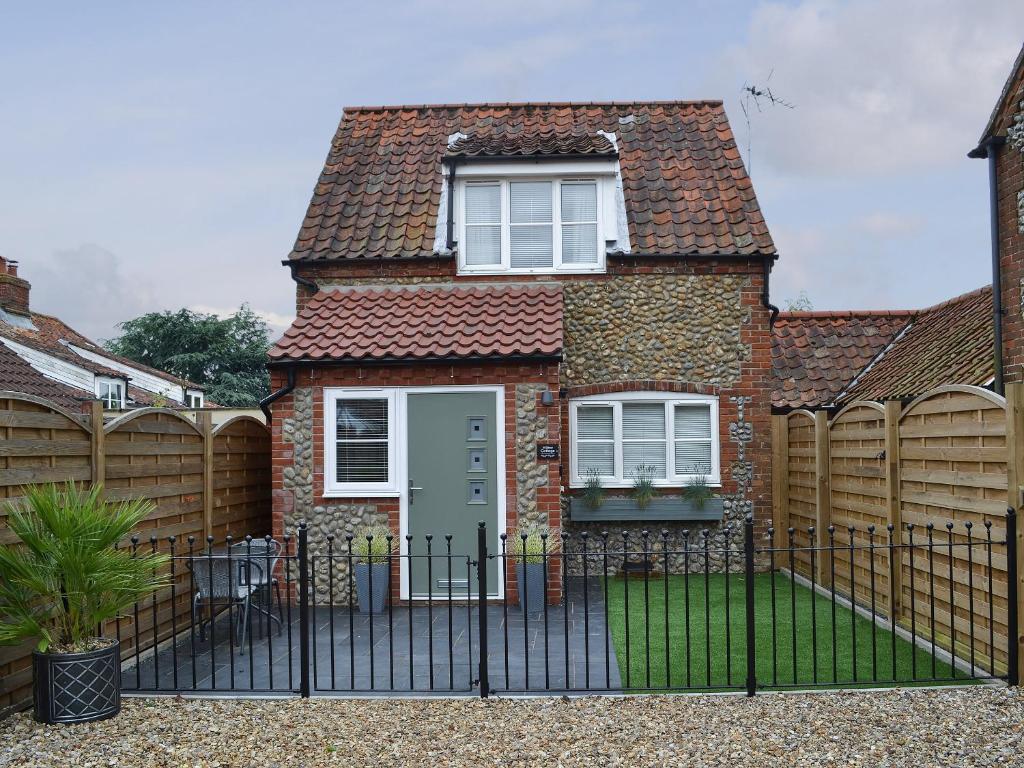
[{"label": "brick and flint cottage with dormer window and grey-green door", "polygon": [[276,532],[767,525],[775,259],[720,101],[346,108],[284,262]]}]

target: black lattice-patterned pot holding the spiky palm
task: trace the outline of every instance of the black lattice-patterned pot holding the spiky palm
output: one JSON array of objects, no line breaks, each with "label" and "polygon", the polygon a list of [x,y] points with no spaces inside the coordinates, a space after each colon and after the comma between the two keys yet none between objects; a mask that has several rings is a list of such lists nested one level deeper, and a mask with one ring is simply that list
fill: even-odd
[{"label": "black lattice-patterned pot holding the spiky palm", "polygon": [[88,723],[121,712],[121,643],[84,653],[32,654],[36,720]]}]

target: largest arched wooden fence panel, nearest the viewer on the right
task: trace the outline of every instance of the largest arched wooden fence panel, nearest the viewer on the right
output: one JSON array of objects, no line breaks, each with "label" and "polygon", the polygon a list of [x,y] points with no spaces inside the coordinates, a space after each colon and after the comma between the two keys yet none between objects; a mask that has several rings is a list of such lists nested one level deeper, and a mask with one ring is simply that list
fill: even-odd
[{"label": "largest arched wooden fence panel, nearest the viewer on the right", "polygon": [[[934,594],[923,550],[913,564],[914,613],[918,632],[931,632],[931,605],[935,605],[935,639],[949,648],[953,641],[958,654],[970,649],[973,624],[979,662],[996,667],[1007,660],[1007,563],[1000,551],[993,558],[994,599],[992,613],[995,648],[988,644],[989,605],[987,562],[980,548],[968,556],[965,523],[974,526],[973,537],[984,539],[985,521],[991,522],[993,539],[1006,536],[1007,508],[1007,412],[1001,397],[974,387],[941,387],[911,402],[900,417],[900,499],[904,523],[914,525],[914,543],[929,536],[938,544],[952,544],[952,550],[934,551]],[[950,534],[945,522],[953,523]],[[935,523],[935,530],[926,525]],[[903,541],[908,535],[904,531]],[[1000,548],[1001,550],[1001,548]],[[973,560],[970,561],[970,560]],[[910,616],[910,558],[903,553],[903,623]],[[973,584],[973,590],[971,585]],[[952,597],[950,598],[950,591]],[[969,606],[973,598],[974,616]],[[952,603],[952,604],[951,604]]]}]

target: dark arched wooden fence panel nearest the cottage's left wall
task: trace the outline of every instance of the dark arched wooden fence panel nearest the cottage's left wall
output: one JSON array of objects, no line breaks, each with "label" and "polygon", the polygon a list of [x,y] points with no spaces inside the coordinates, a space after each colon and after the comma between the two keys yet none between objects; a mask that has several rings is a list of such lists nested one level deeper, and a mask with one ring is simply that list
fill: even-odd
[{"label": "dark arched wooden fence panel nearest the cottage's left wall", "polygon": [[249,417],[213,433],[213,537],[236,539],[271,532],[270,430]]}]

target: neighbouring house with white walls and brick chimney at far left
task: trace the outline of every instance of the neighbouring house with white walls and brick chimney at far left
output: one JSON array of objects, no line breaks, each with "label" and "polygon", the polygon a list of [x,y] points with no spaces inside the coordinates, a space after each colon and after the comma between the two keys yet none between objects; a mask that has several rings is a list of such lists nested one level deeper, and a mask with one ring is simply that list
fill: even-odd
[{"label": "neighbouring house with white walls and brick chimney at far left", "polygon": [[61,321],[32,311],[31,285],[0,256],[0,390],[72,412],[99,399],[111,414],[146,406],[203,408],[199,384],[112,354]]}]

